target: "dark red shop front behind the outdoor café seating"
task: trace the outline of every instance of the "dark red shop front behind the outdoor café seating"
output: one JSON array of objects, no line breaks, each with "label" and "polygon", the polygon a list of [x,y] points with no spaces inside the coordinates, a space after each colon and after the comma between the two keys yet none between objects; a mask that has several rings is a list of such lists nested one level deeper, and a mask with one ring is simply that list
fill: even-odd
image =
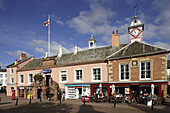
[{"label": "dark red shop front behind the outdoor caf\u00e9 seating", "polygon": [[[113,90],[114,85],[114,90]],[[112,96],[113,94],[119,95],[120,97],[128,97],[129,100],[132,98],[141,99],[149,95],[155,95],[157,97],[164,97],[166,94],[167,82],[131,82],[131,83],[105,83],[102,84],[91,84],[91,96],[102,92],[104,96]],[[101,89],[101,91],[100,91]],[[165,93],[165,94],[164,94]]]}]

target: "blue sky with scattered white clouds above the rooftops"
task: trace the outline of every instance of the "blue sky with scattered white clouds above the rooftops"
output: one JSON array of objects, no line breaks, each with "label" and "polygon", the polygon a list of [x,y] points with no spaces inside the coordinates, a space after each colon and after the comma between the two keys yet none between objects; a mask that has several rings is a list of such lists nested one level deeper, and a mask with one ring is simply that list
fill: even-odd
[{"label": "blue sky with scattered white clouds above the rooftops", "polygon": [[27,57],[45,56],[51,16],[51,55],[88,49],[93,35],[97,47],[111,46],[112,32],[119,30],[120,43],[129,43],[128,27],[134,7],[144,24],[143,41],[170,49],[169,0],[0,0],[0,66]]}]

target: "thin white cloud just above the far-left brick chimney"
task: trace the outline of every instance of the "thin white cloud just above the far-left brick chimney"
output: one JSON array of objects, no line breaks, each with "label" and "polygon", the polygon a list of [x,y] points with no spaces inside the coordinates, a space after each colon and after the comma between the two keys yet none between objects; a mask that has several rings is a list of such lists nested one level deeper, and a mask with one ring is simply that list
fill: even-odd
[{"label": "thin white cloud just above the far-left brick chimney", "polygon": [[16,50],[16,51],[6,51],[7,54],[14,56],[14,57],[20,57],[21,53],[25,53],[27,55],[27,58],[31,57],[32,55],[22,51],[22,50]]}]

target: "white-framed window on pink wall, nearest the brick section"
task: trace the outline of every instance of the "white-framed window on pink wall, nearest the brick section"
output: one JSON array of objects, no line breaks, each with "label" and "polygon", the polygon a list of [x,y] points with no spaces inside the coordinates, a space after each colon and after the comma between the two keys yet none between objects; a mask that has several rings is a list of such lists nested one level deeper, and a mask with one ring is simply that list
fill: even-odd
[{"label": "white-framed window on pink wall, nearest the brick section", "polygon": [[100,68],[93,68],[92,69],[93,80],[101,80],[101,69]]}]

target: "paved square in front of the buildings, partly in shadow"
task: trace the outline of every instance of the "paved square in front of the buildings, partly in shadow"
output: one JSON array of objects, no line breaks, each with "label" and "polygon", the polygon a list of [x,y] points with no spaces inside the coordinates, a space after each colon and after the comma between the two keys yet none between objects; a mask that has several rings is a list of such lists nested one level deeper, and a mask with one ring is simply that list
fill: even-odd
[{"label": "paved square in front of the buildings, partly in shadow", "polygon": [[169,113],[170,106],[159,105],[151,107],[143,104],[117,103],[114,108],[113,103],[86,103],[85,106],[81,100],[47,101],[33,99],[29,104],[29,100],[19,98],[18,105],[16,100],[11,97],[0,94],[0,113]]}]

